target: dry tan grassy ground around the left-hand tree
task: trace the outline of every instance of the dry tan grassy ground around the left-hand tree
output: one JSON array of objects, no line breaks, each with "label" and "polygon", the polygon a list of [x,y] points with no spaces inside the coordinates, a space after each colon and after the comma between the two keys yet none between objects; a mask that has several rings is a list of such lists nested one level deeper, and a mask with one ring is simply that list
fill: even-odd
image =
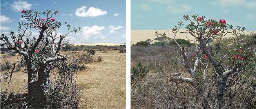
[{"label": "dry tan grassy ground around the left-hand tree", "polygon": [[[96,51],[96,56],[102,56],[101,62],[87,64],[87,69],[79,72],[77,84],[82,86],[82,98],[79,108],[125,108],[125,53],[119,51]],[[1,54],[1,63],[4,62]],[[9,58],[17,60],[17,56]],[[1,75],[6,71],[1,71]],[[19,71],[13,74],[9,91],[24,93],[27,74]],[[1,76],[1,92],[8,84]]]}]

